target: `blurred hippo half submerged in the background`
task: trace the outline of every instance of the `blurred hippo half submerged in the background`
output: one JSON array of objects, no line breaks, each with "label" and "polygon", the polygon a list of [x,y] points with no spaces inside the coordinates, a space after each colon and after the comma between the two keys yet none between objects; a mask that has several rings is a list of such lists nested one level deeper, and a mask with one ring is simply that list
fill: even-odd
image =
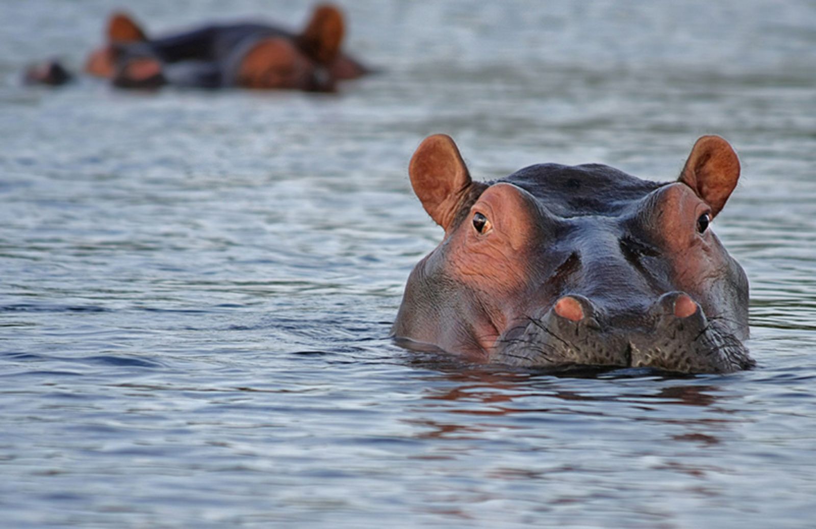
[{"label": "blurred hippo half submerged in the background", "polygon": [[[343,14],[315,7],[303,31],[254,22],[213,24],[149,37],[129,15],[114,13],[106,43],[92,51],[85,71],[122,88],[163,85],[333,91],[337,82],[368,73],[342,50]],[[46,64],[29,68],[28,82],[50,83]],[[62,70],[59,64],[57,64]]]}]

